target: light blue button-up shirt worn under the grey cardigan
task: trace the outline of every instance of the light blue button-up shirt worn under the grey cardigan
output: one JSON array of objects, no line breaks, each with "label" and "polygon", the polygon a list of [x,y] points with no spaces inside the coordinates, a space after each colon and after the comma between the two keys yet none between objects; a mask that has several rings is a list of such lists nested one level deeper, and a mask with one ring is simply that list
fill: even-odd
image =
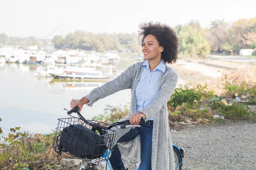
[{"label": "light blue button-up shirt worn under the grey cardigan", "polygon": [[[135,90],[136,113],[153,102],[158,93],[157,87],[160,73],[161,71],[163,73],[166,71],[166,65],[164,64],[163,59],[153,71],[150,71],[149,69],[148,60],[143,62],[141,68],[144,66],[145,68]],[[153,117],[150,120],[154,120]]]}]

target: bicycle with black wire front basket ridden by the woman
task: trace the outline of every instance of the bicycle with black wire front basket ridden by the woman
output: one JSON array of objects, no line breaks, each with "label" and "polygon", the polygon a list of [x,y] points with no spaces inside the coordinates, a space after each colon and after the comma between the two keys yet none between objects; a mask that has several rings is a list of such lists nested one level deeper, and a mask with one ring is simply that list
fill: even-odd
[{"label": "bicycle with black wire front basket ridden by the woman", "polygon": [[[59,155],[64,152],[80,158],[80,170],[95,170],[94,168],[97,165],[102,165],[104,170],[112,170],[108,159],[111,156],[111,150],[115,142],[116,130],[112,130],[111,128],[140,128],[140,124],[131,125],[129,120],[115,122],[111,125],[95,120],[86,120],[79,112],[79,107],[75,107],[70,111],[65,108],[64,110],[67,111],[69,116],[71,116],[71,113],[77,113],[79,118],[71,116],[69,118],[58,119],[53,147]],[[145,123],[145,119],[142,118],[140,123]],[[101,124],[108,125],[108,127]],[[173,144],[173,150],[175,170],[181,170],[184,149],[178,148]],[[87,163],[87,166],[83,165],[83,161]],[[137,167],[136,170],[140,170],[140,168]]]}]

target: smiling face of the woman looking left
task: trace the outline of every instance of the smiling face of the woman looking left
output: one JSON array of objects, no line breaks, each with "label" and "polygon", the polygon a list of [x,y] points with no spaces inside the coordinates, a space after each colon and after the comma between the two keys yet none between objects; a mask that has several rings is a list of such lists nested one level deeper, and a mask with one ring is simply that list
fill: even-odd
[{"label": "smiling face of the woman looking left", "polygon": [[156,37],[152,34],[149,34],[143,41],[142,51],[144,54],[144,59],[162,59],[161,54],[163,52],[163,46],[159,46]]}]

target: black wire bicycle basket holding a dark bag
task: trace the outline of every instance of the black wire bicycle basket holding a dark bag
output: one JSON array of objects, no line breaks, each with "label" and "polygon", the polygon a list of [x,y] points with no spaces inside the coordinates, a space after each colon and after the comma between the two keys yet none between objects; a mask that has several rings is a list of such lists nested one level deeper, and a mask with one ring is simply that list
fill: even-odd
[{"label": "black wire bicycle basket holding a dark bag", "polygon": [[79,118],[63,118],[58,119],[53,147],[59,154],[65,152],[87,162],[99,163],[108,159],[103,155],[109,155],[115,137],[115,130],[109,130],[96,122],[84,123]]}]

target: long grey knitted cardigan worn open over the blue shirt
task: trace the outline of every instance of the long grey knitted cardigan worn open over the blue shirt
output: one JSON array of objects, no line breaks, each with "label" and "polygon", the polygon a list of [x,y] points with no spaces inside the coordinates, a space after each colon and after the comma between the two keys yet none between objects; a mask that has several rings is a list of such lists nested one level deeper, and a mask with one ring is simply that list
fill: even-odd
[{"label": "long grey knitted cardigan worn open over the blue shirt", "polygon": [[[136,112],[135,89],[140,79],[140,75],[145,66],[143,62],[137,62],[127,68],[122,74],[115,79],[105,83],[101,87],[93,89],[85,98],[89,100],[88,106],[92,106],[94,102],[117,91],[131,89],[131,106],[130,111],[124,119],[130,119],[132,114]],[[154,116],[154,127],[152,135],[152,170],[175,170],[174,153],[172,148],[172,139],[169,129],[169,116],[167,111],[167,101],[172,96],[178,76],[172,68],[166,66],[166,72],[161,72],[158,81],[158,93],[154,101],[143,108],[139,112],[146,115],[146,121]],[[120,121],[122,121],[120,120]],[[117,128],[116,128],[117,129]],[[116,140],[127,133],[130,129],[118,129]],[[120,150],[120,149],[119,149]],[[140,148],[133,148],[132,152],[136,152]],[[122,149],[120,150],[122,153]]]}]

